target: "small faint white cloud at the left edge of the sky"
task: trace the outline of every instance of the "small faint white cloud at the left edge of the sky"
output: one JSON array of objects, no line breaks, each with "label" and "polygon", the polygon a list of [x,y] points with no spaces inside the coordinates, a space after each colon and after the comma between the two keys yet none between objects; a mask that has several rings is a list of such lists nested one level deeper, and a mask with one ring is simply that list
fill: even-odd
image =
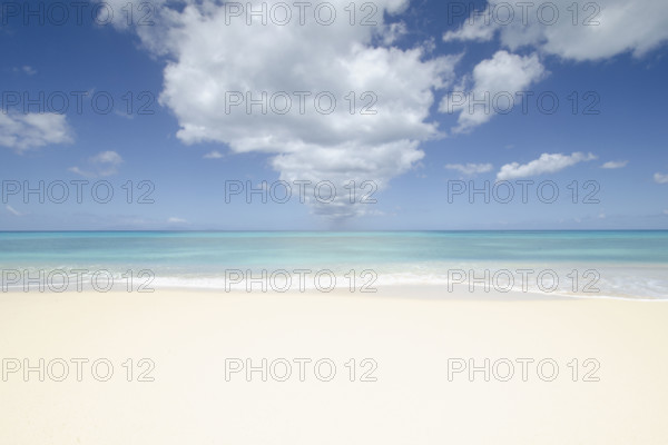
[{"label": "small faint white cloud at the left edge of the sky", "polygon": [[0,113],[0,146],[19,154],[36,147],[72,141],[72,131],[65,115]]}]

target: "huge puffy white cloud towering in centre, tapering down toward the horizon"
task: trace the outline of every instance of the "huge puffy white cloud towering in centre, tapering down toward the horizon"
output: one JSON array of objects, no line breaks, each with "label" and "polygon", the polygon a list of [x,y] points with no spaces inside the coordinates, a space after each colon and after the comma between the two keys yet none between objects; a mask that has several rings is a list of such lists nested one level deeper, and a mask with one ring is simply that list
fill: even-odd
[{"label": "huge puffy white cloud towering in centre, tapering down toward the horizon", "polygon": [[[259,9],[263,2],[252,3]],[[286,26],[262,26],[257,19],[247,26],[246,17],[228,17],[212,0],[156,8],[156,26],[136,31],[154,55],[169,58],[159,101],[178,119],[177,137],[185,144],[225,144],[236,154],[267,154],[281,179],[330,180],[337,190],[350,180],[373,180],[382,189],[414,167],[424,156],[420,142],[442,136],[430,107],[434,90],[452,82],[459,57],[429,58],[424,47],[390,46],[403,27],[387,27],[385,16],[403,11],[407,0],[374,2],[377,26],[351,26],[348,3],[330,1],[337,10],[331,26],[317,24],[313,9],[305,24],[293,17]],[[245,100],[247,92],[258,99],[263,91],[269,103],[272,95],[287,92],[292,108],[284,115],[268,108],[265,115],[259,106],[250,113],[243,106],[225,107],[234,92]],[[297,91],[311,95],[305,112]],[[317,112],[314,98],[321,92],[336,99],[332,113]],[[346,99],[351,92],[354,113]],[[361,115],[372,102],[376,113]],[[276,103],[274,109],[282,109],[285,96]],[[341,206],[312,202],[315,212],[347,217],[363,207],[337,196]]]}]

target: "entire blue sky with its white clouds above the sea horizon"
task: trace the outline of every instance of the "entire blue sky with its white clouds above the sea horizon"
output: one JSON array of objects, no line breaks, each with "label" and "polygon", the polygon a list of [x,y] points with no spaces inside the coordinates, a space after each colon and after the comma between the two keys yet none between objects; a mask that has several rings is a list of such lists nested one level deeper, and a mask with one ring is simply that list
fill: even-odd
[{"label": "entire blue sky with its white clouds above the sea horizon", "polygon": [[[115,12],[105,26],[91,18],[96,2],[81,23],[62,3],[70,6],[62,26],[49,17],[51,3],[41,7],[43,26],[23,17],[22,3],[1,11],[0,229],[668,228],[661,2],[640,1],[629,12],[625,2],[601,1],[599,24],[573,26],[570,0],[551,3],[561,12],[553,24],[532,13],[527,23],[501,24],[493,16],[500,2],[474,3],[494,11],[485,23],[453,17],[462,3],[383,0],[371,3],[377,10],[355,4],[356,21],[374,12],[377,24],[365,27],[350,24],[348,1],[328,3],[337,11],[331,26],[306,14],[304,26],[269,19],[264,27],[225,17],[230,6],[215,1],[132,4],[127,26],[126,3],[98,7]],[[39,11],[39,2],[29,4]],[[145,13],[153,26],[137,23]],[[327,91],[337,107],[331,115],[308,106],[304,115],[296,107],[287,116],[259,107],[227,113],[236,91]],[[357,107],[372,92],[376,115],[347,112],[348,91]],[[461,105],[470,95],[518,91],[532,96],[508,113]],[[84,93],[79,112],[76,95]],[[114,109],[96,112],[94,95],[100,108],[112,98]],[[58,112],[63,96],[69,107]],[[558,98],[559,108],[541,110],[539,96]],[[141,106],[150,113],[139,113]],[[584,113],[588,106],[597,113]],[[81,202],[77,180],[88,181]],[[262,202],[262,192],[250,204],[242,195],[226,202],[230,181],[271,188],[278,180],[330,181],[337,198],[302,204],[293,187],[286,204],[271,195]],[[350,180],[357,198],[375,185],[376,202],[351,205]],[[39,194],[26,199],[23,188],[40,181],[45,202]],[[59,204],[61,184],[70,197]],[[91,197],[96,184],[112,188],[109,202]],[[462,185],[466,191],[456,194]],[[482,194],[470,199],[470,187],[485,185],[489,202]],[[559,198],[538,196],[539,186]],[[515,196],[504,204],[508,187]],[[593,202],[584,202],[588,195]]]}]

